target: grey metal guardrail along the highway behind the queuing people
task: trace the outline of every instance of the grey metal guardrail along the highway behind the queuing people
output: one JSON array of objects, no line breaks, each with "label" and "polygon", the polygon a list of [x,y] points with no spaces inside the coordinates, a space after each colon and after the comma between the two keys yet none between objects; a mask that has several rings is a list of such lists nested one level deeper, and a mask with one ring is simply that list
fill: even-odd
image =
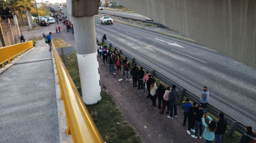
[{"label": "grey metal guardrail along the highway behind the queuing people", "polygon": [[[163,76],[161,73],[159,73],[156,70],[152,69],[151,67],[148,67],[147,65],[143,64],[143,62],[140,62],[139,60],[135,59],[133,56],[129,55],[124,50],[120,50],[120,48],[116,47],[111,42],[109,42],[107,40],[103,40],[103,39],[102,39],[102,42],[108,44],[109,48],[111,48],[111,47],[117,48],[122,55],[126,56],[128,59],[131,59],[133,61],[133,64],[137,63],[140,67],[143,67],[144,70],[149,71],[152,76],[156,76],[158,79],[160,79],[167,85],[175,84],[177,89],[180,90],[181,97],[186,96],[186,97],[189,97],[191,99],[191,101],[200,103],[200,101],[199,101],[200,98],[198,96],[196,96],[195,94],[191,93],[189,90],[186,90],[185,88],[181,87],[180,85],[178,85],[177,83],[175,83],[174,81],[169,79],[168,77]],[[218,117],[218,113],[222,112],[220,109],[212,106],[209,103],[207,104],[207,111],[210,112],[215,117]],[[222,113],[224,113],[224,112],[222,112]],[[243,123],[241,123],[240,121],[237,121],[235,118],[231,117],[230,115],[227,115],[226,113],[224,113],[224,115],[225,115],[225,118],[227,119],[227,123],[230,125],[230,131],[228,133],[230,136],[233,134],[234,131],[237,131],[240,134],[244,134],[246,126]]]}]

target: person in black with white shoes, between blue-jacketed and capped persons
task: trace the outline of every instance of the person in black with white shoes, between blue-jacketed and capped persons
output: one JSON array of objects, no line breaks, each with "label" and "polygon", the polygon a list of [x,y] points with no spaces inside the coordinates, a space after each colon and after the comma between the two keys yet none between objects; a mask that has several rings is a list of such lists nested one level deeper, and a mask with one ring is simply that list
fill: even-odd
[{"label": "person in black with white shoes, between blue-jacketed and capped persons", "polygon": [[190,107],[189,109],[189,115],[188,115],[188,123],[189,123],[189,128],[187,130],[187,133],[191,135],[190,129],[192,129],[192,132],[195,132],[194,127],[195,127],[195,114],[198,112],[198,104],[196,102],[193,103],[193,107]]}]

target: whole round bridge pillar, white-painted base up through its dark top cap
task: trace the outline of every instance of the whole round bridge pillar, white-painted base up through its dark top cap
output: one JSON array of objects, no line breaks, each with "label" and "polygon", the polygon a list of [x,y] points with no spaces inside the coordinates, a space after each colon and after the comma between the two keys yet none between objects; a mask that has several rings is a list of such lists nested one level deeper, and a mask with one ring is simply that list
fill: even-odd
[{"label": "whole round bridge pillar, white-painted base up through its dark top cap", "polygon": [[67,0],[68,13],[73,17],[79,75],[85,104],[96,104],[101,100],[94,24],[94,15],[99,11],[99,1]]}]

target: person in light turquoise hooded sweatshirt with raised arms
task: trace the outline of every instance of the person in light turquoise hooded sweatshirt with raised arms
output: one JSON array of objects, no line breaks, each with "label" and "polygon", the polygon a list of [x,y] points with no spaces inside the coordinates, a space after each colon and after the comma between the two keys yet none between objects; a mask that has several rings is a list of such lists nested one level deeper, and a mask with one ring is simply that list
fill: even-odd
[{"label": "person in light turquoise hooded sweatshirt with raised arms", "polygon": [[[205,123],[204,117],[207,117],[209,119],[208,124]],[[215,138],[214,132],[217,129],[216,123],[214,121],[212,121],[212,118],[210,116],[208,116],[206,113],[202,117],[202,123],[205,127],[203,137],[204,137],[206,143],[212,143],[212,140],[214,140],[214,138]]]}]

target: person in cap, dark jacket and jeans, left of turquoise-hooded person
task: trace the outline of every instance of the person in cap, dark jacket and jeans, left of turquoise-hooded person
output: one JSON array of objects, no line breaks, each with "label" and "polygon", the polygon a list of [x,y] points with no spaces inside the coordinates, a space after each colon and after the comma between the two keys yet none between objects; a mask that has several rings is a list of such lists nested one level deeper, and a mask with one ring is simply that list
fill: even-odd
[{"label": "person in cap, dark jacket and jeans, left of turquoise-hooded person", "polygon": [[200,138],[202,138],[203,135],[203,123],[202,123],[202,117],[204,113],[207,113],[207,111],[204,109],[204,105],[199,105],[199,110],[195,114],[195,135],[191,135],[191,137],[197,138],[198,135],[198,127],[199,127],[199,135]]}]

